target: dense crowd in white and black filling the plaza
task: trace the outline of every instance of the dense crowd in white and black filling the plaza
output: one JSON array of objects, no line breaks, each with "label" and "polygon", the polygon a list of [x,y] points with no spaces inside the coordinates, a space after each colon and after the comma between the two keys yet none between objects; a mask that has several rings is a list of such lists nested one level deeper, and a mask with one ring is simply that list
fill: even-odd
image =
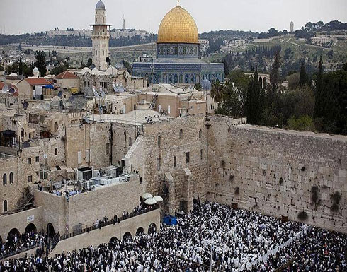
[{"label": "dense crowd in white and black filling the plaza", "polygon": [[[307,225],[282,222],[261,213],[232,209],[219,203],[195,203],[193,211],[164,225],[160,232],[111,240],[56,255],[25,256],[3,271],[213,271],[234,272],[290,240]],[[313,227],[267,261],[244,271],[347,271],[346,235]],[[12,270],[11,270],[12,269]]]}]

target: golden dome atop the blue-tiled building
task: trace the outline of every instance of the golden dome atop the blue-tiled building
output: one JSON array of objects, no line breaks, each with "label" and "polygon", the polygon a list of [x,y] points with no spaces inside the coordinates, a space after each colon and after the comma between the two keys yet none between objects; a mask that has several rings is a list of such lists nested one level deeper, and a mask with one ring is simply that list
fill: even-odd
[{"label": "golden dome atop the blue-tiled building", "polygon": [[181,6],[172,8],[161,20],[158,43],[199,43],[199,33],[193,17]]}]

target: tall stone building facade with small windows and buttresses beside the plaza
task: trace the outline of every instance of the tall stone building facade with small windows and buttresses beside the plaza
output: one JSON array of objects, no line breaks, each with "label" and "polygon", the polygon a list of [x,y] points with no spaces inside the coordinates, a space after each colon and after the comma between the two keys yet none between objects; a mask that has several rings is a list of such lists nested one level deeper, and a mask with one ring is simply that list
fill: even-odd
[{"label": "tall stone building facade with small windows and buttresses beside the plaza", "polygon": [[139,171],[145,191],[153,195],[164,196],[164,180],[170,174],[171,213],[178,211],[181,201],[188,204],[189,210],[193,196],[205,196],[208,163],[204,114],[145,124],[142,143],[137,148],[140,150],[131,150],[132,154],[125,157],[125,168],[132,165],[133,170]]}]

